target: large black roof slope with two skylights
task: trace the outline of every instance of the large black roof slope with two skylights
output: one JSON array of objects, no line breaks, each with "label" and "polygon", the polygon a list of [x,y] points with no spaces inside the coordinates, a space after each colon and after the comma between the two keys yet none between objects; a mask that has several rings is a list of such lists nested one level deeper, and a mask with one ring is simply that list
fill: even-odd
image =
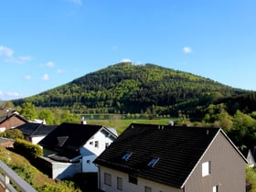
[{"label": "large black roof slope with two skylights", "polygon": [[132,123],[94,163],[182,187],[219,130]]}]

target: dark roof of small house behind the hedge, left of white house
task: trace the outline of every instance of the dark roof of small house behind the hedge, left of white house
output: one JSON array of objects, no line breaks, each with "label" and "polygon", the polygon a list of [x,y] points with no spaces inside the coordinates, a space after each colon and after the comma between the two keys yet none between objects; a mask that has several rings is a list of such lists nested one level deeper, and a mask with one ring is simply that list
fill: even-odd
[{"label": "dark roof of small house behind the hedge, left of white house", "polygon": [[51,133],[56,127],[57,125],[47,125],[43,123],[25,123],[17,126],[16,129],[20,130],[24,135],[39,136]]}]

